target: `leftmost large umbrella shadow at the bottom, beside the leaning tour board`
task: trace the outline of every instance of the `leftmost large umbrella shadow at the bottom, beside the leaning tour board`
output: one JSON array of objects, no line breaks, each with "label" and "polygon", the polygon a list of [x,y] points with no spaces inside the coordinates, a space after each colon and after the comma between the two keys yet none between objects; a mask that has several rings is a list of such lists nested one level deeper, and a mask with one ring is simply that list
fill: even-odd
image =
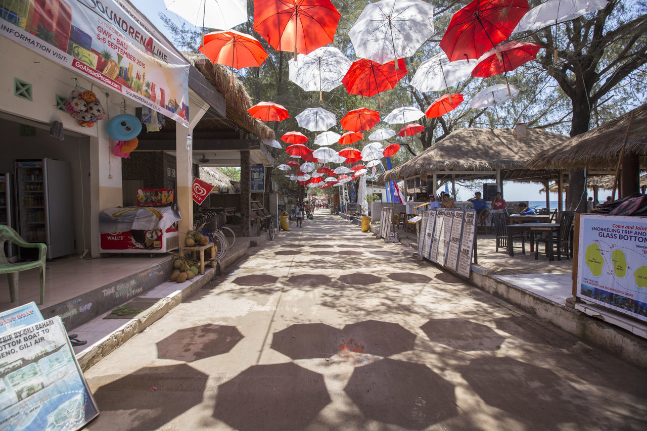
[{"label": "leftmost large umbrella shadow at the bottom, beside the leaning tour board", "polygon": [[207,379],[187,364],[145,367],[104,384],[94,399],[107,423],[128,416],[120,430],[154,430],[202,403]]}]

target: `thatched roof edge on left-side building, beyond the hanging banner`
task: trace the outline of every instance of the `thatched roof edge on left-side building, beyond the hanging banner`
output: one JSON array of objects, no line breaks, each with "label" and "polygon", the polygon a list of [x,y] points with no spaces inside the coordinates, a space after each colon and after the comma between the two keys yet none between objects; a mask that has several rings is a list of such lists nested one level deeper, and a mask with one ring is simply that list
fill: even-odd
[{"label": "thatched roof edge on left-side building, beyond the hanging banner", "polygon": [[227,103],[227,117],[234,120],[239,126],[247,129],[258,138],[274,139],[274,131],[267,127],[264,122],[258,120],[247,112],[254,103],[247,94],[245,85],[234,75],[234,85],[232,82],[232,72],[223,65],[212,63],[204,54],[195,54],[193,52],[182,52],[186,60],[204,75],[215,89],[217,89],[225,98]]}]

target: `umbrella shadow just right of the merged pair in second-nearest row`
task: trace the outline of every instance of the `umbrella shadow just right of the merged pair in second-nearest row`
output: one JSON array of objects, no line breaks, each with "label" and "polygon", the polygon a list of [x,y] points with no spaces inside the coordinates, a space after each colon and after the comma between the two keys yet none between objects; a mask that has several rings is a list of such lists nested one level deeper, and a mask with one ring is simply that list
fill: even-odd
[{"label": "umbrella shadow just right of the merged pair in second-nearest row", "polygon": [[420,328],[432,342],[462,351],[498,350],[505,341],[489,326],[459,318],[431,319]]}]

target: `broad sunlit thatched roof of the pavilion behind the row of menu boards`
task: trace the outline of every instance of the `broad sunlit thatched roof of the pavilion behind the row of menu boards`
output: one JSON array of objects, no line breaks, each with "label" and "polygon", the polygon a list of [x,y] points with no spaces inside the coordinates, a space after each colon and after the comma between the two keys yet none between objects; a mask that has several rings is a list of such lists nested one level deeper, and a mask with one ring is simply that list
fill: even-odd
[{"label": "broad sunlit thatched roof of the pavilion behind the row of menu boards", "polygon": [[379,182],[400,180],[434,171],[495,171],[525,168],[525,160],[568,138],[541,129],[529,129],[518,139],[514,129],[458,129],[397,168]]}]

